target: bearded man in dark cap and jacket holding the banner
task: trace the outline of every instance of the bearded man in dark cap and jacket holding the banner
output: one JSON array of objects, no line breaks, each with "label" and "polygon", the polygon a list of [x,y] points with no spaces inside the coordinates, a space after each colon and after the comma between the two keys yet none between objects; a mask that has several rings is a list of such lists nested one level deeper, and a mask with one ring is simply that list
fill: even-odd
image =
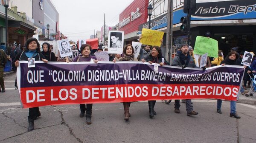
[{"label": "bearded man in dark cap and jacket holding the banner", "polygon": [[[177,56],[174,57],[172,60],[172,66],[177,67],[196,67],[195,61],[192,59],[192,57],[188,54],[189,52],[189,45],[182,45],[181,52]],[[186,111],[187,115],[198,115],[198,112],[193,111],[193,106],[191,105],[191,99],[186,99]],[[180,100],[175,100],[174,104],[174,112],[180,113]]]}]

